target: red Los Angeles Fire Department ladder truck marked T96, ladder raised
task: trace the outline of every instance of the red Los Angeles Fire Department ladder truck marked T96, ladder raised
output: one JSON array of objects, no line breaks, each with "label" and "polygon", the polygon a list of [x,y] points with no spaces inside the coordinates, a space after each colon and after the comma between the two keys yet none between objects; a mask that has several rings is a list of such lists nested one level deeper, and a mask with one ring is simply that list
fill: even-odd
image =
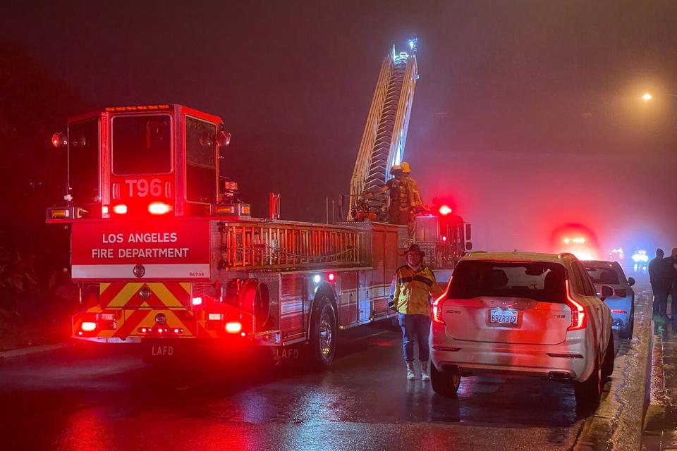
[{"label": "red Los Angeles Fire Department ladder truck marked T96, ladder raised", "polygon": [[[401,161],[417,78],[414,54],[386,55],[351,199]],[[273,194],[269,217],[252,218],[221,173],[229,142],[221,118],[178,104],[86,113],[52,137],[68,153],[66,202],[47,221],[71,233],[82,305],[73,338],[142,342],[148,357],[202,344],[303,345],[327,367],[339,331],[394,315],[389,286],[403,248],[419,242],[440,268],[465,249],[462,219],[440,232],[422,218],[416,237],[353,218],[283,221]]]}]

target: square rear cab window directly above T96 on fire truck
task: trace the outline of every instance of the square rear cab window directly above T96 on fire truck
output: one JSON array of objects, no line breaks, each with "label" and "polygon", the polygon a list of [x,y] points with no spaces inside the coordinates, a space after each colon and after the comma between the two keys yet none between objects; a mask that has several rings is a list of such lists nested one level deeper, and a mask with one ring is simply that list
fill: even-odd
[{"label": "square rear cab window directly above T96 on fire truck", "polygon": [[115,116],[111,135],[114,174],[171,172],[169,115]]}]

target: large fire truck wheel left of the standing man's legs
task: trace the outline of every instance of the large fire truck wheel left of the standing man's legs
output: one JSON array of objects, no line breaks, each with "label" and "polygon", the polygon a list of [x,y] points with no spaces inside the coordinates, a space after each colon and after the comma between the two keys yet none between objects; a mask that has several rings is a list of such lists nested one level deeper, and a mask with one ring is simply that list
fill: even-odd
[{"label": "large fire truck wheel left of the standing man's legs", "polygon": [[336,354],[336,313],[326,297],[318,299],[310,323],[310,358],[319,369],[327,369]]}]

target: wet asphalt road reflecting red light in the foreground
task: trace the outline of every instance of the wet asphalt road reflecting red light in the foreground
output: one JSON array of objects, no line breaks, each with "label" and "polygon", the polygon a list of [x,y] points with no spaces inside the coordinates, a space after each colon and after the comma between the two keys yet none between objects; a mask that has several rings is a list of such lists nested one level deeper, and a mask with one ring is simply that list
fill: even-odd
[{"label": "wet asphalt road reflecting red light in the foreground", "polygon": [[566,450],[585,414],[566,383],[464,378],[457,399],[405,380],[398,331],[351,330],[326,372],[67,348],[0,364],[0,450]]}]

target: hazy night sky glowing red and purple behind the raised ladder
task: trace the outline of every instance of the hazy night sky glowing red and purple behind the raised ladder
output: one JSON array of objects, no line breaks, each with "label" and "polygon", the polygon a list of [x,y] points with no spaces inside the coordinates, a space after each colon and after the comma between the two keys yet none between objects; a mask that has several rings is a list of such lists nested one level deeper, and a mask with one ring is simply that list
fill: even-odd
[{"label": "hazy night sky glowing red and purple behind the raised ladder", "polygon": [[[676,1],[4,1],[0,40],[83,101],[224,118],[255,214],[348,190],[382,58],[416,33],[406,159],[477,249],[677,246]],[[654,101],[643,102],[645,91]],[[6,106],[6,105],[5,105]],[[65,118],[63,118],[65,124]],[[45,137],[48,140],[49,136]],[[43,206],[36,206],[42,209]]]}]

